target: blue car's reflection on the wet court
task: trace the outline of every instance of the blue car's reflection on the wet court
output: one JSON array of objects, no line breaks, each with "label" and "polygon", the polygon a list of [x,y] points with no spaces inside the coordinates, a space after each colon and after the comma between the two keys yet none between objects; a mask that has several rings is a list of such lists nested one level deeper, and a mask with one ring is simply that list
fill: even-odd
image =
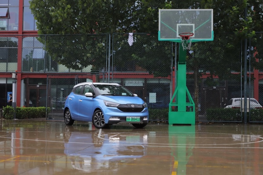
[{"label": "blue car's reflection on the wet court", "polygon": [[[96,173],[101,169],[118,170],[119,162],[129,163],[144,156],[142,143],[147,135],[147,132],[133,131],[104,133],[102,129],[87,133],[66,126],[64,153],[69,155],[74,169],[87,173]],[[88,149],[90,146],[93,148]]]}]

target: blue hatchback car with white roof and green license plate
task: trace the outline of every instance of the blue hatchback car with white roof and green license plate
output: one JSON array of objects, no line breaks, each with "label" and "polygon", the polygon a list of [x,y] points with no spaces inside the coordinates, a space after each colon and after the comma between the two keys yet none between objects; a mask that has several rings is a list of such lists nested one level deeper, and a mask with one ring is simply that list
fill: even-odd
[{"label": "blue hatchback car with white roof and green license plate", "polygon": [[148,124],[147,104],[117,83],[79,83],[67,96],[64,107],[66,125],[74,120],[92,122],[96,128],[109,124]]}]

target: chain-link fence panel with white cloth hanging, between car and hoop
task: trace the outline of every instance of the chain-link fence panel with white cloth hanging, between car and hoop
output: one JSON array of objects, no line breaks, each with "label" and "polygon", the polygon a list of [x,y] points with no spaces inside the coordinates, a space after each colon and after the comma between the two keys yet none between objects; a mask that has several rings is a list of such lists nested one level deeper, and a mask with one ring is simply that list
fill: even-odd
[{"label": "chain-link fence panel with white cloth hanging, between car and hoop", "polygon": [[112,53],[112,82],[144,99],[151,120],[168,120],[172,43],[157,35],[114,34]]}]

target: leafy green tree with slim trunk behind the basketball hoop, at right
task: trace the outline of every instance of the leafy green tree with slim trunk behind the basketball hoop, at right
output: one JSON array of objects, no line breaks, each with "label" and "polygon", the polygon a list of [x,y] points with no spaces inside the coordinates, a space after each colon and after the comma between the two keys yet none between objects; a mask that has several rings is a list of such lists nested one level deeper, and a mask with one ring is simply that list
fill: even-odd
[{"label": "leafy green tree with slim trunk behind the basketball hoop, at right", "polygon": [[[257,8],[253,8],[255,4]],[[262,13],[260,4],[262,1],[238,0],[200,1],[196,4],[195,8],[214,9],[214,41],[195,43],[191,48],[193,52],[187,60],[187,66],[194,70],[195,104],[198,104],[198,82],[200,82],[198,79],[202,75],[199,69],[204,69],[204,72],[209,71],[209,79],[213,76],[218,76],[222,80],[239,78],[240,75],[232,74],[232,72],[240,72],[240,55],[241,51],[244,51],[244,48],[240,47],[241,41],[245,38],[254,40],[255,26],[258,22],[262,24],[261,17],[258,16]],[[256,13],[255,9],[257,9]],[[244,15],[245,11],[247,11],[247,18]],[[256,67],[255,60],[252,61],[253,66]],[[196,106],[196,118],[198,117],[197,109]]]}]

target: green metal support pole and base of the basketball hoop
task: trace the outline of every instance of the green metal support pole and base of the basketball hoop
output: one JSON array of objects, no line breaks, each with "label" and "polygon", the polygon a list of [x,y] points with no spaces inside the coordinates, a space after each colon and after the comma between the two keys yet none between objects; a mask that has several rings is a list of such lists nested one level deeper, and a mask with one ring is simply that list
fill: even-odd
[{"label": "green metal support pole and base of the basketball hoop", "polygon": [[186,87],[186,50],[179,48],[176,89],[169,103],[169,124],[195,124],[194,101]]}]

